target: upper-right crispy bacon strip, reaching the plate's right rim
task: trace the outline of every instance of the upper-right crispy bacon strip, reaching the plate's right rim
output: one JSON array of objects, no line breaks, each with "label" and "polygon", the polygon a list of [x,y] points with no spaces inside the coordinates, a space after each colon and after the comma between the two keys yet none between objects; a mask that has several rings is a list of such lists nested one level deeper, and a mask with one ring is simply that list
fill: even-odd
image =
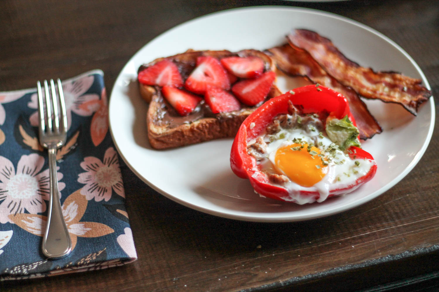
[{"label": "upper-right crispy bacon strip, reaching the plate's right rim", "polygon": [[317,32],[296,29],[288,35],[288,41],[291,46],[306,50],[328,74],[365,98],[399,103],[416,116],[419,105],[432,95],[420,79],[361,67]]}]

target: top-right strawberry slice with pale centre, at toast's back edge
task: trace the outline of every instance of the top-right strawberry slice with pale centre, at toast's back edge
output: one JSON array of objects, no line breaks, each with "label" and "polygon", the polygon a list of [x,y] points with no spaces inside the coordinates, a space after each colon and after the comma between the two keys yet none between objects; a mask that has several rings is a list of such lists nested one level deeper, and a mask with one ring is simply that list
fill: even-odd
[{"label": "top-right strawberry slice with pale centre, at toast's back edge", "polygon": [[253,78],[263,73],[264,61],[256,56],[227,57],[221,59],[221,64],[230,73],[240,78]]}]

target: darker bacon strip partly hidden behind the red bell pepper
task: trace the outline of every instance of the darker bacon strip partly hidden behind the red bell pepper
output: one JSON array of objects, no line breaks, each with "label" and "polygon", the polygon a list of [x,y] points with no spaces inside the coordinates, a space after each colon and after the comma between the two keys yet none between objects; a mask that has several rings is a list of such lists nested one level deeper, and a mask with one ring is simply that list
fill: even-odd
[{"label": "darker bacon strip partly hidden behind the red bell pepper", "polygon": [[313,83],[321,84],[340,92],[349,102],[349,108],[353,114],[360,138],[367,139],[374,134],[381,133],[382,129],[375,118],[369,113],[367,106],[357,93],[331,77],[322,67],[302,49],[295,49],[289,44],[274,47],[267,50],[275,61],[279,70],[290,76],[304,76]]}]

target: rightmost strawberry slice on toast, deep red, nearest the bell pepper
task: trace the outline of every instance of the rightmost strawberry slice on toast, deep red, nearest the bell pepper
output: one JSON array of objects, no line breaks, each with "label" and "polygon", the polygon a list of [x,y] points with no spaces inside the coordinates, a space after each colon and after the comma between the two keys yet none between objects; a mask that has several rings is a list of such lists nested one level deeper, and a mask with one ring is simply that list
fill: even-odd
[{"label": "rightmost strawberry slice on toast, deep red, nearest the bell pepper", "polygon": [[237,82],[233,85],[232,92],[242,103],[255,106],[266,98],[274,79],[276,79],[276,73],[268,71],[255,79]]}]

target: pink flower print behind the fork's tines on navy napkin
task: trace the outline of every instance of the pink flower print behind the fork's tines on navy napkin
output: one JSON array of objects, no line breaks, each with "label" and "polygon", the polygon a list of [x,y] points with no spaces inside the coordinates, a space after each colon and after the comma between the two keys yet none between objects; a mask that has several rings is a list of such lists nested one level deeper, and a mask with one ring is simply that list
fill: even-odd
[{"label": "pink flower print behind the fork's tines on navy napkin", "polygon": [[[62,85],[65,99],[65,108],[67,111],[67,129],[72,124],[72,112],[79,116],[91,116],[101,107],[101,101],[97,94],[84,94],[93,84],[94,76],[80,78],[77,81],[68,82]],[[28,103],[29,108],[38,109],[38,97],[34,93],[31,101]],[[38,126],[38,112],[32,113],[29,117],[32,126]]]}]

